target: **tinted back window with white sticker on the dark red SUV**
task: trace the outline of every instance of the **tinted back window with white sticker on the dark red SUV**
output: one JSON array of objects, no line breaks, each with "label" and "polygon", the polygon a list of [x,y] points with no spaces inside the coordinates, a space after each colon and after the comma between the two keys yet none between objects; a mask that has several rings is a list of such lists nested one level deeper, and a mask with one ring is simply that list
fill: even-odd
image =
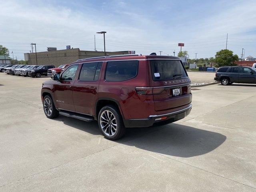
[{"label": "tinted back window with white sticker on the dark red SUV", "polygon": [[179,60],[150,60],[150,66],[154,81],[187,77]]}]

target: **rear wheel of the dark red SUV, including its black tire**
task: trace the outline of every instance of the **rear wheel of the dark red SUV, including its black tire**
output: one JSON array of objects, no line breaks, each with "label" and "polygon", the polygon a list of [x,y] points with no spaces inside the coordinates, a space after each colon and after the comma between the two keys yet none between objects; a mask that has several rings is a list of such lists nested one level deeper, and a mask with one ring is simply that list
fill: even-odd
[{"label": "rear wheel of the dark red SUV, including its black tire", "polygon": [[[101,117],[106,118],[105,113],[107,111],[111,112],[112,115],[114,115],[113,121],[111,120],[111,117],[113,117],[113,116],[110,116],[110,118],[106,119],[106,121],[108,121],[108,123],[102,122]],[[116,131],[114,131],[115,124],[116,124]],[[107,138],[109,140],[117,140],[117,139],[121,138],[126,131],[122,116],[121,116],[118,108],[116,108],[115,106],[112,106],[112,105],[104,106],[100,110],[100,112],[98,114],[98,125],[99,125],[99,128],[100,128],[102,134],[105,136],[105,138]],[[104,128],[102,128],[102,126],[106,126],[106,129],[104,130]],[[111,129],[111,131],[110,131],[110,129]],[[111,133],[113,133],[112,131],[114,131],[115,133],[111,135]]]}]

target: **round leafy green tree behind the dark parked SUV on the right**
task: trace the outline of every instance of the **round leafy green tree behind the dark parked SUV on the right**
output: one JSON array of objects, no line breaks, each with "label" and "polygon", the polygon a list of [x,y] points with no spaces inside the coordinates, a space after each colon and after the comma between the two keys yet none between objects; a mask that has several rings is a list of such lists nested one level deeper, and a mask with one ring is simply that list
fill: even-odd
[{"label": "round leafy green tree behind the dark parked SUV on the right", "polygon": [[231,50],[222,49],[216,52],[215,62],[218,64],[219,67],[236,65],[234,64],[234,61],[238,61],[238,55],[234,55]]}]

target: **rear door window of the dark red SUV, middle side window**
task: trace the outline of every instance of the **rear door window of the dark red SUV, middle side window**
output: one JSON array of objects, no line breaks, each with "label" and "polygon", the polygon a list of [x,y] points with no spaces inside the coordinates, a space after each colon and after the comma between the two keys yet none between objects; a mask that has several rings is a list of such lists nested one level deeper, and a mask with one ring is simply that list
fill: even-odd
[{"label": "rear door window of the dark red SUV, middle side window", "polygon": [[97,81],[100,74],[102,62],[84,63],[80,75],[80,81]]}]

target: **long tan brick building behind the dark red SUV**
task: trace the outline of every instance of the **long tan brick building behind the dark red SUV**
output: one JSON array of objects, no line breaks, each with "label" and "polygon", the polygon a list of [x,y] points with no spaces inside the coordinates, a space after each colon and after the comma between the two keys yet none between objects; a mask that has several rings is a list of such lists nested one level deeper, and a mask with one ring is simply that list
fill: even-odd
[{"label": "long tan brick building behind the dark red SUV", "polygon": [[[122,55],[129,53],[129,51],[106,52],[106,55]],[[24,58],[25,61],[28,61],[28,65],[36,65],[36,56],[38,65],[54,65],[55,67],[58,67],[62,64],[70,64],[78,59],[104,56],[104,52],[82,51],[79,48],[75,48],[37,53],[24,53]]]}]

